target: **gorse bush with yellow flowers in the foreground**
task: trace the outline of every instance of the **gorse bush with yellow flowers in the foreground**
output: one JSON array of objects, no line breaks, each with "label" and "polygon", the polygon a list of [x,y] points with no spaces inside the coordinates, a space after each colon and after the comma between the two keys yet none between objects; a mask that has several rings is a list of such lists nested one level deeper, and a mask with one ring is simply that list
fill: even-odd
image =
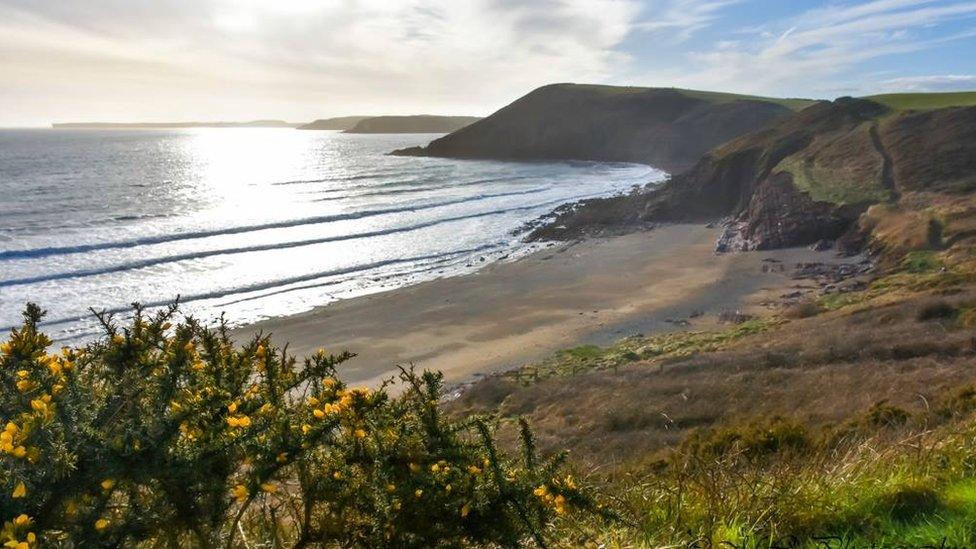
[{"label": "gorse bush with yellow flowers in the foreground", "polygon": [[444,418],[439,374],[349,388],[349,353],[237,347],[175,306],[51,354],[42,315],[0,345],[7,547],[544,545],[596,510],[526,425],[515,459],[486,419]]}]

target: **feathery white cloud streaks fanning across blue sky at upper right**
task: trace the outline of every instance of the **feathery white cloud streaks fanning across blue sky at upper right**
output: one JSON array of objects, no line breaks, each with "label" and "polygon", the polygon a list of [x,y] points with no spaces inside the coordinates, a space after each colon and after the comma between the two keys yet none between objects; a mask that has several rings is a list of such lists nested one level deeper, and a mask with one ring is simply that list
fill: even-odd
[{"label": "feathery white cloud streaks fanning across blue sky at upper right", "polygon": [[873,91],[867,63],[972,37],[972,31],[933,30],[974,17],[972,1],[831,4],[692,51],[687,68],[663,78],[677,85],[776,95],[829,97],[852,87]]}]

